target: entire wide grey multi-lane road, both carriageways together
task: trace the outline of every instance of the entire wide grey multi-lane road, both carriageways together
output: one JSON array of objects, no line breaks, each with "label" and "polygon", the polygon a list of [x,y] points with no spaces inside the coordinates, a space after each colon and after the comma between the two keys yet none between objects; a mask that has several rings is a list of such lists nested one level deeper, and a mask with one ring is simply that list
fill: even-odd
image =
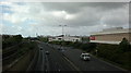
[{"label": "entire wide grey multi-lane road, both carriageways together", "polygon": [[[91,61],[80,59],[82,50],[63,47],[63,51],[57,45],[39,44],[39,58],[35,71],[107,71],[110,73],[123,73],[124,70],[110,63],[102,61],[95,57],[91,57]],[[46,54],[45,51],[50,54]],[[104,72],[105,73],[105,72]]]}]

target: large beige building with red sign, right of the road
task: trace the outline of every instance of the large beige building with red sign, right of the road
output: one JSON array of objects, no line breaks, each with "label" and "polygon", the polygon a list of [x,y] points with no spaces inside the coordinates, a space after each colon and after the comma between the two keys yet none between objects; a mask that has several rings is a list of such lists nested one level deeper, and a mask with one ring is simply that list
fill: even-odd
[{"label": "large beige building with red sign, right of the road", "polygon": [[102,32],[92,33],[90,36],[91,42],[102,44],[119,44],[122,38],[127,38],[130,42],[129,37],[131,36],[131,28],[114,27],[103,29]]}]

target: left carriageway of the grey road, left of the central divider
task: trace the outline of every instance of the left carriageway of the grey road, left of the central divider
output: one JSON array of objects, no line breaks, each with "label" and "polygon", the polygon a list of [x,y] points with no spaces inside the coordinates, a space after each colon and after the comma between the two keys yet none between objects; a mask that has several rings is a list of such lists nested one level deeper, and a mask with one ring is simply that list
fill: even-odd
[{"label": "left carriageway of the grey road, left of the central divider", "polygon": [[[43,50],[41,50],[43,49]],[[45,52],[49,51],[49,54]],[[75,71],[75,69],[67,61],[67,59],[58,50],[47,46],[44,42],[39,44],[39,56],[35,66],[35,71]]]}]

